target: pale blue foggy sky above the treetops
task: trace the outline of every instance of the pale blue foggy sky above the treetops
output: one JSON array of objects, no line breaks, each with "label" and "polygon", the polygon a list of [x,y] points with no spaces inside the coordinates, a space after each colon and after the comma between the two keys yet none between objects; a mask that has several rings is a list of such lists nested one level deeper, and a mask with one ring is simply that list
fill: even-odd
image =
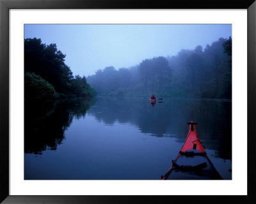
[{"label": "pale blue foggy sky above the treetops", "polygon": [[26,24],[25,38],[56,43],[74,75],[140,64],[143,59],[175,56],[232,36],[231,24]]}]

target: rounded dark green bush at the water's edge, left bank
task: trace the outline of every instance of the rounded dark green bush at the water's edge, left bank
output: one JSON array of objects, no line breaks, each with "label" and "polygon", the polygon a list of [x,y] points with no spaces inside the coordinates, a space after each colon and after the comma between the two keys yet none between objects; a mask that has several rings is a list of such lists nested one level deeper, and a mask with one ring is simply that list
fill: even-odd
[{"label": "rounded dark green bush at the water's edge, left bank", "polygon": [[53,99],[59,97],[52,84],[39,75],[25,72],[24,81],[26,99]]}]

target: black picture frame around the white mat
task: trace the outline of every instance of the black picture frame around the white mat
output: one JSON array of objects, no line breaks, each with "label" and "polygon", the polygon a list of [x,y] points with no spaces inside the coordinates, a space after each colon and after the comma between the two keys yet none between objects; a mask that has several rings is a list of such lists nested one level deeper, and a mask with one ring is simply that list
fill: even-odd
[{"label": "black picture frame around the white mat", "polygon": [[[246,9],[248,12],[247,67],[247,196],[10,196],[9,194],[9,10],[10,9]],[[0,201],[3,203],[256,203],[255,104],[256,104],[256,2],[255,0],[0,0]],[[246,135],[244,135],[246,137]],[[182,189],[180,189],[182,191]]]}]

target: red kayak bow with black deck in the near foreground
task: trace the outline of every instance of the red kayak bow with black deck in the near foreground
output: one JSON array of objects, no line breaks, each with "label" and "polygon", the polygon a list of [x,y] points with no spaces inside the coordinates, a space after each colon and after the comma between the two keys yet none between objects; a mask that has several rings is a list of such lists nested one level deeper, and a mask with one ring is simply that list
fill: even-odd
[{"label": "red kayak bow with black deck in the near foreground", "polygon": [[176,159],[162,180],[221,180],[214,168],[202,143],[200,142],[195,125],[189,124],[188,136]]}]

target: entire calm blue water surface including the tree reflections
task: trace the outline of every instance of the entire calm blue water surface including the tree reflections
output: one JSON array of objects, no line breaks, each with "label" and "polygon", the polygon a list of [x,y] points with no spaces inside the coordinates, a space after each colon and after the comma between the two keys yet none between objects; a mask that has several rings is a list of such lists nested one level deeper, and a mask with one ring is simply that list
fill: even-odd
[{"label": "entire calm blue water surface including the tree reflections", "polygon": [[232,102],[163,98],[25,103],[26,180],[159,180],[197,122],[221,177],[232,179]]}]

